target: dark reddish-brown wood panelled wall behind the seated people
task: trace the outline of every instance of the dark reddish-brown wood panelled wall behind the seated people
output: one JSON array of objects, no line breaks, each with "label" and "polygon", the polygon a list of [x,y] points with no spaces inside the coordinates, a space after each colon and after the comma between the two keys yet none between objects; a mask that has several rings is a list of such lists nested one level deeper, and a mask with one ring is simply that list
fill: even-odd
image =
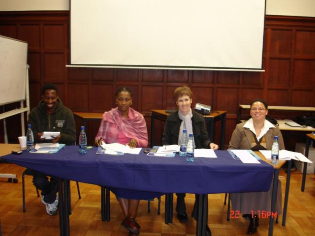
[{"label": "dark reddish-brown wood panelled wall behind the seated people", "polygon": [[[315,106],[315,18],[266,16],[265,72],[66,68],[70,58],[67,11],[0,12],[0,34],[29,43],[31,107],[39,102],[40,89],[47,82],[57,84],[64,104],[80,112],[111,109],[115,90],[128,86],[133,92],[132,106],[145,115],[150,133],[150,110],[174,106],[174,89],[188,85],[193,106],[199,102],[227,111],[228,144],[237,123],[238,104],[261,97],[270,105]],[[81,121],[76,121],[79,126]],[[88,122],[90,143],[98,125]],[[163,123],[157,122],[155,128],[155,140],[160,140]],[[9,138],[16,141],[18,135],[19,130],[12,130]],[[217,132],[216,142],[220,135]]]}]

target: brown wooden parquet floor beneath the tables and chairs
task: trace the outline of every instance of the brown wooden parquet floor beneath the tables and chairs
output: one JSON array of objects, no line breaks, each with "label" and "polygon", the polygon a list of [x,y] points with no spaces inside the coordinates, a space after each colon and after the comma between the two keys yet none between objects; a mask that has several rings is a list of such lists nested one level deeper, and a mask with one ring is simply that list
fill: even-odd
[{"label": "brown wooden parquet floor beneath the tables and chairs", "polygon": [[[26,177],[26,212],[22,212],[22,179],[25,168],[14,164],[0,163],[0,173],[17,174],[18,183],[8,183],[0,178],[0,222],[2,236],[57,236],[59,217],[49,216],[44,205],[36,196],[32,177]],[[284,171],[281,176],[286,176]],[[300,191],[302,174],[291,175],[289,204],[286,226],[280,223],[274,227],[274,236],[315,235],[315,175],[308,174],[305,192]],[[283,181],[282,189],[284,193]],[[78,199],[75,182],[71,181],[70,234],[72,236],[127,236],[120,223],[124,216],[119,204],[111,194],[111,221],[102,222],[100,214],[100,187],[80,183],[82,199]],[[283,194],[284,197],[284,194]],[[186,197],[187,212],[191,213],[194,195]],[[174,201],[176,197],[174,196]],[[224,194],[209,195],[209,226],[212,235],[246,235],[249,221],[242,217],[226,221],[227,206],[223,205]],[[174,205],[175,206],[175,205]],[[181,224],[174,212],[173,223],[164,224],[164,196],[161,198],[161,214],[157,214],[158,200],[151,202],[151,213],[147,212],[147,201],[141,201],[137,221],[141,225],[141,236],[184,236],[194,235],[196,222],[189,217],[187,224]],[[256,236],[268,235],[268,219],[260,218]]]}]

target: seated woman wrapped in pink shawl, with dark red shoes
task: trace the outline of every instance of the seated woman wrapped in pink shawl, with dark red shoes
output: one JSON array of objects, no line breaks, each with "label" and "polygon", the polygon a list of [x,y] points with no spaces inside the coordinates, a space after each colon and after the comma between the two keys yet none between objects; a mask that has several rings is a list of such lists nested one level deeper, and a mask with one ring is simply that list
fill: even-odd
[{"label": "seated woman wrapped in pink shawl, with dark red shoes", "polygon": [[[130,108],[132,93],[129,88],[120,88],[115,93],[117,107],[103,114],[103,119],[95,137],[95,145],[120,143],[130,148],[146,148],[148,132],[143,116]],[[113,189],[112,189],[113,190]],[[119,189],[116,189],[119,192]],[[118,192],[114,191],[116,195]],[[118,196],[119,197],[119,196]],[[140,200],[119,197],[120,206],[126,216],[122,225],[129,231],[129,236],[138,235],[140,226],[135,221]]]}]

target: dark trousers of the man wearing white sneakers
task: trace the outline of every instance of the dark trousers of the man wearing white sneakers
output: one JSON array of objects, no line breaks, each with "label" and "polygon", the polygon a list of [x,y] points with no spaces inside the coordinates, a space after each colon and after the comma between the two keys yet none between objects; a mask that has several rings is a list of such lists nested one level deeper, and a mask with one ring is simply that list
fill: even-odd
[{"label": "dark trousers of the man wearing white sneakers", "polygon": [[52,204],[55,202],[57,197],[57,179],[50,177],[50,181],[46,174],[43,174],[38,171],[33,171],[28,169],[26,172],[27,175],[33,176],[33,184],[36,188],[41,190],[41,195],[44,196],[45,203]]}]

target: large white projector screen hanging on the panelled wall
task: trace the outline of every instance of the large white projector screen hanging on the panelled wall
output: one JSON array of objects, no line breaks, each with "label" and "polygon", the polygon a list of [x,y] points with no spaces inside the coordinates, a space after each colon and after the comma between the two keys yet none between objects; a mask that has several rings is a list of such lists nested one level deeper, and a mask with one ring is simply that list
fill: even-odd
[{"label": "large white projector screen hanging on the panelled wall", "polygon": [[71,65],[262,69],[265,0],[72,0]]}]

